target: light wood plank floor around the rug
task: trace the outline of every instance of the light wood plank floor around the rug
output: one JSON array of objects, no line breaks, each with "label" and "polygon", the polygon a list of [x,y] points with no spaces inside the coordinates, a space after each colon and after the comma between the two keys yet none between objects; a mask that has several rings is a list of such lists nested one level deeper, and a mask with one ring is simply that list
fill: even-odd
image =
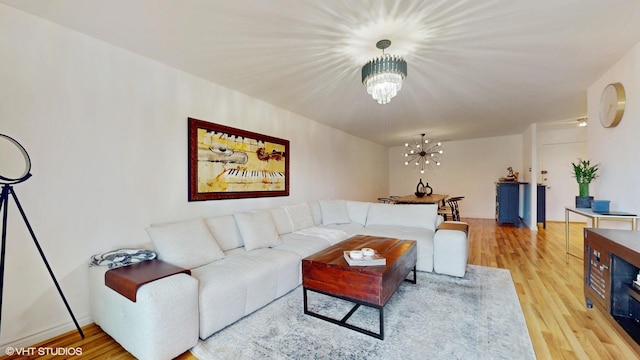
[{"label": "light wood plank floor around the rug", "polygon": [[[511,270],[538,359],[640,359],[603,314],[585,307],[582,260],[570,256],[566,262],[564,223],[547,223],[536,233],[494,220],[463,220],[470,225],[469,263]],[[571,224],[570,252],[580,257],[583,226]],[[84,340],[70,332],[36,346],[81,347],[86,358],[133,359],[99,327],[83,331]],[[179,359],[195,358],[186,352]]]}]

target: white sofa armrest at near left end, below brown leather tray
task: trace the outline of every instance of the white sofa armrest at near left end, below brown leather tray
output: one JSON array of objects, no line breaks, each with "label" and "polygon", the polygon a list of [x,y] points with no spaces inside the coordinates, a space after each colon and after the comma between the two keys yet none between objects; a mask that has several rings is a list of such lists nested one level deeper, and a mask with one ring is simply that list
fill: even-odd
[{"label": "white sofa armrest at near left end, below brown leather tray", "polygon": [[138,359],[172,359],[198,341],[198,281],[177,274],[137,290],[136,302],[105,285],[102,266],[89,268],[91,316]]}]

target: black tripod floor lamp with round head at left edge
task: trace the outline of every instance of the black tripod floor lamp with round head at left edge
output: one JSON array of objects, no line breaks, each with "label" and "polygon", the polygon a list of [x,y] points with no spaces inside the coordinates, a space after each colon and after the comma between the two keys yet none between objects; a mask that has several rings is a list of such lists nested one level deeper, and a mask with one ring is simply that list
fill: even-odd
[{"label": "black tripod floor lamp with round head at left edge", "polygon": [[[30,172],[31,160],[29,159],[29,154],[27,154],[27,151],[24,149],[24,147],[22,147],[22,145],[20,145],[19,142],[17,142],[16,140],[12,139],[7,135],[0,134],[0,146],[2,146],[0,149],[4,153],[16,153],[16,154],[18,152],[21,153],[22,157],[24,158],[24,165],[25,165],[23,172],[18,172],[16,174],[8,174],[8,175],[5,175],[3,173],[3,169],[0,168],[0,184],[2,184],[2,196],[0,197],[0,210],[2,211],[2,250],[0,252],[0,331],[2,330],[2,299],[3,299],[3,293],[4,293],[3,291],[4,290],[4,268],[5,268],[5,257],[6,257],[6,248],[7,248],[6,247],[7,218],[9,215],[9,197],[11,197],[13,201],[16,203],[18,210],[20,211],[22,220],[27,226],[27,229],[29,230],[29,234],[31,234],[33,243],[36,245],[36,248],[40,253],[40,257],[42,258],[42,261],[47,267],[47,270],[49,271],[49,275],[51,275],[51,279],[53,280],[53,283],[55,284],[56,289],[58,289],[58,294],[60,294],[60,297],[62,298],[64,305],[67,307],[67,311],[69,311],[69,315],[71,315],[71,318],[73,319],[73,323],[76,325],[76,329],[78,329],[80,336],[84,338],[84,333],[82,332],[82,329],[80,329],[80,325],[78,325],[78,321],[76,320],[76,317],[73,315],[73,311],[71,311],[71,307],[69,307],[69,303],[67,302],[67,299],[64,297],[64,294],[62,293],[62,289],[58,284],[58,280],[56,280],[55,275],[53,275],[53,270],[51,270],[51,266],[49,266],[49,262],[47,261],[47,258],[44,255],[44,252],[42,251],[42,248],[40,247],[38,240],[36,239],[36,235],[33,232],[33,229],[31,228],[31,224],[29,224],[27,215],[25,214],[22,208],[22,205],[20,205],[20,201],[18,201],[18,196],[13,190],[13,185],[25,182],[27,179],[31,177],[31,172]],[[16,151],[16,148],[18,151]],[[13,150],[13,152],[11,150]]]}]

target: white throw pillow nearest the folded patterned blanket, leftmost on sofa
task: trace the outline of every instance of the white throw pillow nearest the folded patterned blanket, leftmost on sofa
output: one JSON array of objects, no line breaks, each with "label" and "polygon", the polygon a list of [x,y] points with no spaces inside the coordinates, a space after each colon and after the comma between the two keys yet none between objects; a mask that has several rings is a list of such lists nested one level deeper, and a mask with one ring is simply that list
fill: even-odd
[{"label": "white throw pillow nearest the folded patterned blanket, leftmost on sofa", "polygon": [[176,222],[146,229],[158,259],[187,269],[224,258],[204,220]]}]

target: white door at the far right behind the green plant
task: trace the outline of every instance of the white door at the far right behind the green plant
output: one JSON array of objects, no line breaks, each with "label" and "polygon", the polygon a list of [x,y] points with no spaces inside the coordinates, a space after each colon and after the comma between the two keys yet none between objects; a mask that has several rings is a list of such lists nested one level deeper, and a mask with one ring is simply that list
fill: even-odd
[{"label": "white door at the far right behind the green plant", "polygon": [[586,158],[585,141],[542,145],[541,182],[547,187],[547,221],[564,221],[565,206],[575,206],[578,183],[572,176],[571,163]]}]

